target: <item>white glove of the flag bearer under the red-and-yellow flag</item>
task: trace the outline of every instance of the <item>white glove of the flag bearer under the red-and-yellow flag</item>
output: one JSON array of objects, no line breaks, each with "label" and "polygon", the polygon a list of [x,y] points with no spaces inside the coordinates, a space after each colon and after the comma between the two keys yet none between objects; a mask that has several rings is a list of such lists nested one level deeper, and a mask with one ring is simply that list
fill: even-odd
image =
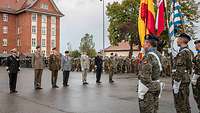
[{"label": "white glove of the flag bearer under the red-and-yellow flag", "polygon": [[140,80],[138,83],[138,97],[144,99],[144,95],[148,92],[149,88],[146,87]]}]

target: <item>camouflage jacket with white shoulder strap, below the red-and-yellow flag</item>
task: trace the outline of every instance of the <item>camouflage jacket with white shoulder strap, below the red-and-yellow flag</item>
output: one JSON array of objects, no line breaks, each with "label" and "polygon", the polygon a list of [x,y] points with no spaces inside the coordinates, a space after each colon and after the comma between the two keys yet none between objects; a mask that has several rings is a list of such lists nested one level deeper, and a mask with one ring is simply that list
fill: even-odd
[{"label": "camouflage jacket with white shoulder strap, below the red-and-yellow flag", "polygon": [[158,59],[150,52],[155,53],[161,63],[161,54],[157,50],[147,52],[141,63],[139,79],[149,88],[149,91],[158,91],[160,90],[160,84],[156,81],[160,79],[162,70],[160,70]]}]

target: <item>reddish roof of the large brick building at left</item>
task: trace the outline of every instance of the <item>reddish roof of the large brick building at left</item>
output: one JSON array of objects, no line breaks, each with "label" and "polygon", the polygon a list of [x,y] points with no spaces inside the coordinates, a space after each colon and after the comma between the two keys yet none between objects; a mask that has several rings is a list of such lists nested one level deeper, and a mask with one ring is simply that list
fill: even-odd
[{"label": "reddish roof of the large brick building at left", "polygon": [[[39,0],[0,0],[0,12],[19,14],[24,11],[30,11],[32,6]],[[53,0],[49,0],[60,16],[64,16]]]}]

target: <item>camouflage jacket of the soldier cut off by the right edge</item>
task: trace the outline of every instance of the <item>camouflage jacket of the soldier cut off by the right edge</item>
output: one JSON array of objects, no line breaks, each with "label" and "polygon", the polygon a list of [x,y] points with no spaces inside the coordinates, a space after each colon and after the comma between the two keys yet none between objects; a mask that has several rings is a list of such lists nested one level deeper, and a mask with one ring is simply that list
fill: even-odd
[{"label": "camouflage jacket of the soldier cut off by the right edge", "polygon": [[198,53],[192,60],[194,64],[194,74],[200,75],[200,53]]}]

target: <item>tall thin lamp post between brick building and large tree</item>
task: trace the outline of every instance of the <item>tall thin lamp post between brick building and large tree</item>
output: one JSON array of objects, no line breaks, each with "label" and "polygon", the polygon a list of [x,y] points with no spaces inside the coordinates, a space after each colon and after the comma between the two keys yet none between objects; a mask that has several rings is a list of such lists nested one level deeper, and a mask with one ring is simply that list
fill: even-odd
[{"label": "tall thin lamp post between brick building and large tree", "polygon": [[105,0],[100,0],[103,4],[103,56],[105,55]]}]

